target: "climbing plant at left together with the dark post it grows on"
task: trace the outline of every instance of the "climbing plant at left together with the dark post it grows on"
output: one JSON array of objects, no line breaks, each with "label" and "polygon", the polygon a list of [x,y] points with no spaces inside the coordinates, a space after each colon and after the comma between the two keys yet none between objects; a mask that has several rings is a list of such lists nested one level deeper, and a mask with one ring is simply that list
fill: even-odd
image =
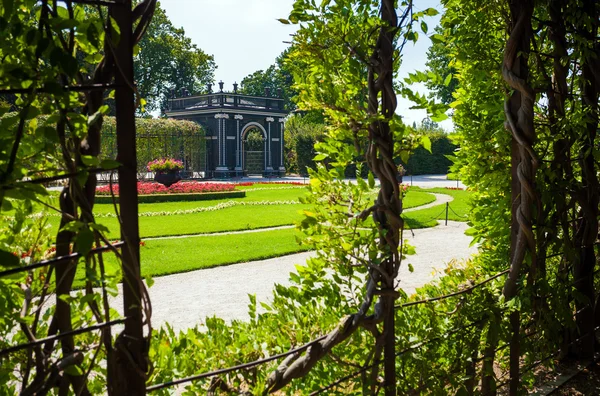
[{"label": "climbing plant at left together with the dark post it grows on", "polygon": [[[17,0],[0,7],[0,90],[16,95],[16,112],[0,120],[2,393],[139,394],[149,370],[135,192],[121,194],[129,195],[121,205],[124,242],[107,240],[93,206],[99,171],[118,168],[121,181],[133,175],[128,184],[135,189],[135,155],[123,154],[135,139],[133,46],[156,2],[135,10],[125,0],[85,3]],[[119,162],[99,158],[104,93],[113,89]],[[56,180],[66,187],[52,194],[44,184]],[[52,239],[46,220],[30,216],[34,204],[60,213]],[[117,280],[106,275],[102,252],[122,262],[125,318],[109,304]],[[78,268],[85,289],[74,291]],[[116,339],[115,324],[124,324]]]}]

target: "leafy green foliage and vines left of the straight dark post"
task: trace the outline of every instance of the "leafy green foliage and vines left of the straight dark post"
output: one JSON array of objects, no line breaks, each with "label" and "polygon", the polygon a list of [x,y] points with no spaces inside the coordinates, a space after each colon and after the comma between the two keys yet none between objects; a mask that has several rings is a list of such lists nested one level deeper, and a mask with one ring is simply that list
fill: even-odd
[{"label": "leafy green foliage and vines left of the straight dark post", "polygon": [[[118,47],[119,27],[105,16],[94,7],[71,2],[15,0],[0,6],[0,89],[17,92],[11,106],[0,108],[0,270],[8,265],[22,269],[55,254],[83,255],[62,266],[0,278],[0,349],[61,333],[60,339],[46,344],[49,350],[44,353],[41,348],[27,348],[2,357],[2,394],[100,394],[107,389],[106,364],[99,364],[106,359],[107,344],[100,335],[63,334],[103,322],[105,317],[119,317],[109,308],[99,313],[99,291],[71,293],[68,270],[79,267],[86,280],[102,279],[107,290],[117,290],[114,279],[103,277],[102,264],[87,255],[100,244],[105,230],[90,215],[93,200],[84,192],[94,188],[89,168],[116,165],[95,154],[95,131],[109,108],[102,105],[102,91],[65,88],[111,83],[107,76],[113,75],[114,62],[105,62],[102,73],[91,75],[107,49]],[[14,113],[7,114],[8,110]],[[56,229],[49,229],[49,220],[33,215],[32,209],[46,204],[52,211],[60,210],[49,203],[51,194],[42,183],[43,178],[58,176],[69,179],[62,207],[69,222],[51,247],[50,235],[56,235],[52,232]],[[5,218],[7,212],[11,217]],[[18,260],[6,260],[7,253],[16,254]],[[74,351],[79,356],[70,362]],[[52,382],[58,362],[63,379],[60,392]],[[94,374],[81,383],[83,387],[75,386],[86,370]]]}]

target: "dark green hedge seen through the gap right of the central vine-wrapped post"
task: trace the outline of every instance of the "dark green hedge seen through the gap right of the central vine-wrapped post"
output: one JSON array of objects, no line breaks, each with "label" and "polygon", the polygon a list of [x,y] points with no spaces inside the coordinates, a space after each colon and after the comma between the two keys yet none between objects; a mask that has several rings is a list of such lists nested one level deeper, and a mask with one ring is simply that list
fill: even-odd
[{"label": "dark green hedge seen through the gap right of the central vine-wrapped post", "polygon": [[423,147],[418,147],[408,159],[406,168],[408,175],[445,175],[452,161],[446,155],[454,155],[458,148],[444,133],[428,134],[431,140],[431,153]]}]

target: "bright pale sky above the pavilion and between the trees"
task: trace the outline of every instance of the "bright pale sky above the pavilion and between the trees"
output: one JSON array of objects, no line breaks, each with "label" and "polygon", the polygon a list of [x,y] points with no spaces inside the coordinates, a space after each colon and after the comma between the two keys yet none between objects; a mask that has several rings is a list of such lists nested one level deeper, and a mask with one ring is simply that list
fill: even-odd
[{"label": "bright pale sky above the pavilion and between the trees", "polygon": [[[183,27],[186,35],[208,54],[215,57],[216,82],[223,81],[226,90],[232,84],[257,70],[264,70],[289,45],[296,27],[284,25],[277,18],[287,18],[294,0],[161,0],[171,22]],[[433,7],[442,11],[438,0],[415,0],[415,9]],[[439,15],[426,20],[429,34],[439,23]],[[416,45],[404,48],[401,77],[424,70],[427,48],[431,41],[420,34]],[[425,92],[423,86],[415,87]],[[397,113],[407,123],[421,122],[424,110],[410,110],[411,103],[399,98]],[[451,129],[449,121],[442,123]]]}]

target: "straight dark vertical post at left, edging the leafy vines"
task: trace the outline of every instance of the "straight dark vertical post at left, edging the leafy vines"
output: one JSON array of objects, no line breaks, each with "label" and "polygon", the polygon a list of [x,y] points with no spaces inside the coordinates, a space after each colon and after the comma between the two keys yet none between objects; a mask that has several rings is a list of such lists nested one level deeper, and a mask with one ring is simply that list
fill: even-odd
[{"label": "straight dark vertical post at left, edging the leafy vines", "polygon": [[135,96],[133,91],[133,19],[131,0],[121,0],[111,7],[120,36],[116,48],[115,91],[117,119],[117,161],[119,167],[119,206],[123,255],[123,305],[125,329],[119,335],[117,353],[117,387],[119,395],[145,395],[147,362],[142,321],[142,284],[140,275],[140,236],[138,228],[137,158],[135,130]]}]

